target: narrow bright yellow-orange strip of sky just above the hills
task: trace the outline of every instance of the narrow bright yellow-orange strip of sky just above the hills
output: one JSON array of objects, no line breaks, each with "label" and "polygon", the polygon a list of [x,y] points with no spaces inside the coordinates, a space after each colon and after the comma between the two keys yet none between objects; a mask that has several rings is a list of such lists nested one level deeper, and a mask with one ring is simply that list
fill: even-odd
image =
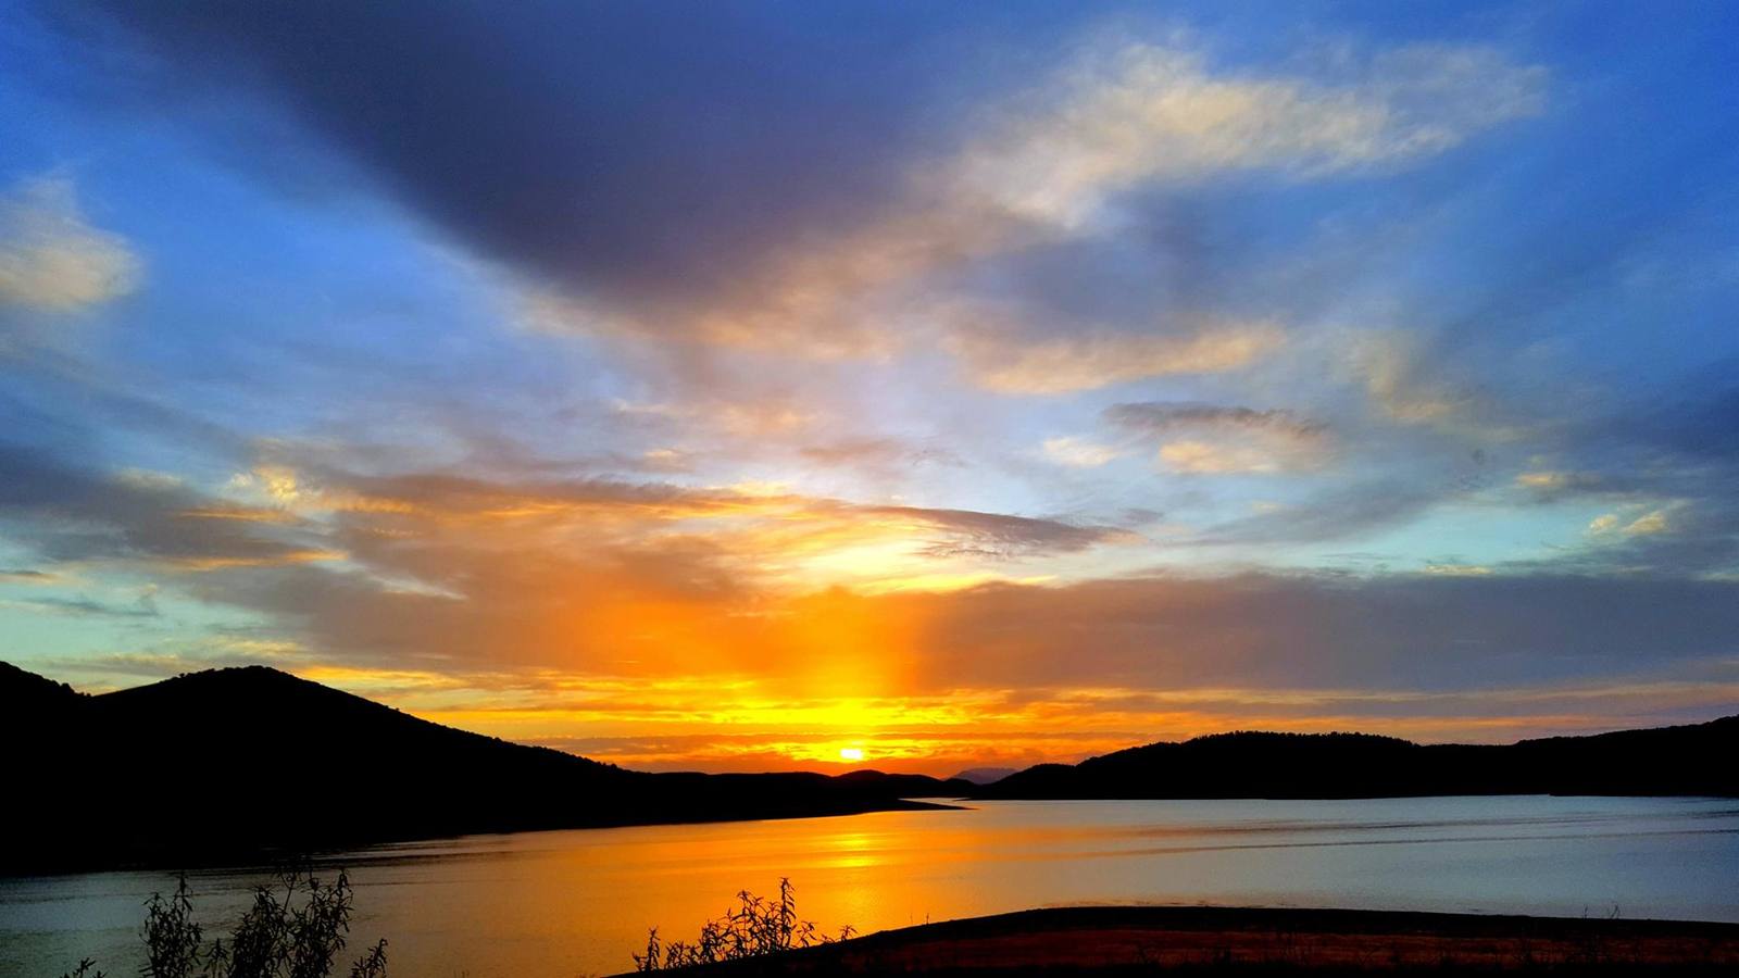
[{"label": "narrow bright yellow-orange strip of sky just above the hills", "polygon": [[[657,771],[840,773],[870,766],[949,776],[969,767],[1073,762],[1155,740],[1233,729],[1367,731],[1417,741],[1511,741],[1553,731],[1610,729],[1598,713],[1574,708],[1588,693],[1516,694],[1513,713],[1410,717],[1405,710],[1417,696],[1407,694],[1377,713],[1348,713],[1346,703],[1318,703],[1311,694],[1236,689],[1160,698],[1116,689],[833,698],[805,691],[803,679],[783,684],[750,677],[544,675],[530,680],[534,689],[523,689],[503,677],[463,686],[402,672],[304,675],[440,724]],[[1739,691],[1727,691],[1734,693]],[[1494,696],[1490,707],[1502,707],[1502,700]]]}]

